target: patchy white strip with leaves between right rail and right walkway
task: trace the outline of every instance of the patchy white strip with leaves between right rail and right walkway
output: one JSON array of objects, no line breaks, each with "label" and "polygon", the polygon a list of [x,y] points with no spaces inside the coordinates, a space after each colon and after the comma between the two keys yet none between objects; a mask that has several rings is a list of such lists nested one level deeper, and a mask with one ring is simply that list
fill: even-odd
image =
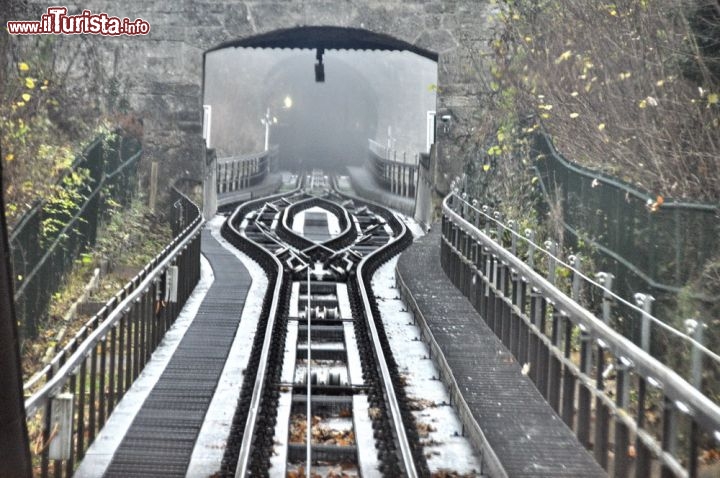
[{"label": "patchy white strip with leaves between right rail and right walkway", "polygon": [[[425,445],[430,472],[440,470],[480,476],[480,459],[470,442],[462,436],[462,424],[449,405],[450,396],[440,381],[440,372],[429,358],[430,351],[421,340],[420,329],[395,288],[395,265],[398,256],[381,266],[373,277],[372,287],[382,314],[383,324],[398,369],[406,377],[408,398],[425,406],[415,411],[415,421]],[[427,432],[427,436],[423,434]]]}]

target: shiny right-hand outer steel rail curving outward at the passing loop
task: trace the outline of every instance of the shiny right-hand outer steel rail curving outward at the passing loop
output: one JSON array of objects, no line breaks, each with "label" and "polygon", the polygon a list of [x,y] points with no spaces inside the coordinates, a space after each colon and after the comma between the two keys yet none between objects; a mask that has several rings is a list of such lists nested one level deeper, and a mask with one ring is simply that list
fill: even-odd
[{"label": "shiny right-hand outer steel rail curving outward at the passing loop", "polygon": [[373,316],[372,307],[370,306],[370,299],[368,298],[365,281],[363,280],[363,268],[367,264],[367,262],[371,259],[374,259],[376,255],[382,252],[384,249],[400,241],[401,238],[407,233],[407,227],[405,226],[405,223],[398,220],[398,224],[400,224],[401,233],[393,237],[393,239],[388,241],[388,243],[384,246],[363,257],[363,259],[358,264],[356,277],[358,281],[359,293],[362,298],[363,308],[365,309],[366,322],[370,330],[370,335],[372,337],[373,349],[381,373],[381,380],[383,382],[383,386],[385,387],[385,398],[387,400],[388,409],[392,418],[395,436],[397,438],[400,448],[400,455],[403,461],[403,465],[405,467],[405,473],[407,474],[408,478],[415,478],[418,476],[418,472],[415,467],[415,460],[413,458],[412,448],[405,432],[405,424],[403,423],[402,413],[400,411],[400,404],[398,403],[397,397],[395,396],[395,387],[393,386],[390,370],[388,369],[387,362],[385,360],[385,354],[380,344],[380,335],[378,334],[377,327],[375,326],[375,317]]}]

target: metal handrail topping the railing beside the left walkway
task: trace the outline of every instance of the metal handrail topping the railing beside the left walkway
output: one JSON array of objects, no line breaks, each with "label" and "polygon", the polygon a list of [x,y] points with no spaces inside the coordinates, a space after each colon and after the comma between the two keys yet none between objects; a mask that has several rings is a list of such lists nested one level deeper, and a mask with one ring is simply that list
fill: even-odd
[{"label": "metal handrail topping the railing beside the left walkway", "polygon": [[125,299],[123,299],[107,316],[107,318],[98,326],[97,329],[92,331],[87,339],[85,339],[73,354],[68,357],[65,364],[63,364],[54,376],[45,384],[43,387],[35,392],[30,398],[25,401],[25,413],[27,416],[32,416],[41,406],[43,406],[50,398],[55,396],[62,387],[65,386],[69,380],[69,376],[72,372],[79,367],[83,361],[87,358],[91,349],[102,340],[105,335],[115,326],[115,324],[122,319],[125,309],[129,308],[132,303],[140,297],[144,291],[150,287],[152,282],[165,272],[165,269],[180,254],[180,252],[187,247],[198,234],[205,224],[205,219],[202,215],[198,216],[193,223],[185,228],[185,231],[181,233],[185,237],[180,241],[155,268],[150,272],[138,286],[133,290]]}]

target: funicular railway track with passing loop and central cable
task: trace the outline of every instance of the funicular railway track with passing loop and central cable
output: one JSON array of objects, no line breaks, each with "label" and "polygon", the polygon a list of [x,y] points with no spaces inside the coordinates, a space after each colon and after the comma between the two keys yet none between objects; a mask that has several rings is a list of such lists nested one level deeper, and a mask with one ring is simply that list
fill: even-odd
[{"label": "funicular railway track with passing loop and central cable", "polygon": [[[310,458],[320,476],[428,476],[370,289],[412,235],[387,209],[323,196],[299,188],[251,201],[223,226],[269,286],[222,475],[305,476]],[[293,229],[317,208],[339,229],[323,241]]]}]

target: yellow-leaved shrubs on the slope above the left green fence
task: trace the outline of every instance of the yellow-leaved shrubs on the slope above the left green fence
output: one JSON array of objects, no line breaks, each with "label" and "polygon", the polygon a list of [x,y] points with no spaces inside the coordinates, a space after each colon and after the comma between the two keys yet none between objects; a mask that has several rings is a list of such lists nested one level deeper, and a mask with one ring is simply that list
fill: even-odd
[{"label": "yellow-leaved shrubs on the slope above the left green fence", "polygon": [[[0,20],[25,18],[24,3],[0,12]],[[64,42],[53,35],[0,35],[2,187],[11,230],[36,201],[62,195],[58,180],[88,143],[118,128],[142,134],[129,112],[127,84],[105,78],[102,91],[90,91],[95,101],[87,101],[85,85],[69,75],[96,69],[97,52],[88,42],[70,55]],[[82,182],[83,172],[76,173],[72,180]]]}]

